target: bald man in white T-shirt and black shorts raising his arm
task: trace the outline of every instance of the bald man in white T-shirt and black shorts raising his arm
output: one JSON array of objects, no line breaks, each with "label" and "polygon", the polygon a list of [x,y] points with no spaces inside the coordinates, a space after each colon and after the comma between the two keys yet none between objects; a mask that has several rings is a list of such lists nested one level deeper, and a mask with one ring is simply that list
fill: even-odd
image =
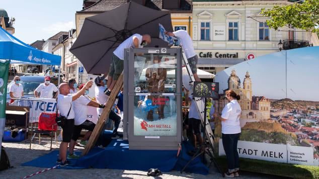
[{"label": "bald man in white T-shirt and black shorts raising his arm", "polygon": [[66,160],[66,151],[67,145],[71,141],[73,129],[74,129],[74,110],[72,106],[72,101],[75,101],[77,98],[85,94],[85,91],[91,88],[93,81],[88,81],[85,84],[85,87],[82,90],[79,90],[75,94],[70,93],[70,87],[67,83],[61,83],[59,86],[60,94],[57,97],[57,109],[61,116],[66,118],[65,125],[62,126],[63,134],[62,134],[62,142],[60,144],[59,157],[57,162],[60,166],[64,166],[68,164]]}]

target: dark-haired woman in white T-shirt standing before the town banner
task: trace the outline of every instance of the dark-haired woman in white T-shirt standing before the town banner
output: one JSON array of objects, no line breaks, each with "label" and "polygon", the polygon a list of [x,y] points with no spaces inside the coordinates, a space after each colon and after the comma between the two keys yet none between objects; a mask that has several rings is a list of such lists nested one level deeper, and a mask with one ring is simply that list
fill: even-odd
[{"label": "dark-haired woman in white T-shirt standing before the town banner", "polygon": [[[221,112],[221,134],[222,144],[226,153],[228,170],[225,172],[226,177],[239,176],[239,156],[237,152],[238,138],[241,135],[241,106],[237,100],[241,99],[233,90],[226,91],[226,99],[229,101]],[[215,117],[218,116],[214,113]]]}]

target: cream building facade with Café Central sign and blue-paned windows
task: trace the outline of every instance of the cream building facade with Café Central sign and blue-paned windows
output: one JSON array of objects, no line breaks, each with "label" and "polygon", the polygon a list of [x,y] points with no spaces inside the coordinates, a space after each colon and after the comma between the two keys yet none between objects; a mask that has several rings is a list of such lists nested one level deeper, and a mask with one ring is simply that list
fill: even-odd
[{"label": "cream building facade with Caf\u00e9 Central sign and blue-paned windows", "polygon": [[[283,28],[275,31],[266,18],[249,16],[262,8],[291,4],[289,1],[193,1],[193,44],[199,57],[198,68],[213,74],[258,56],[278,52],[280,40],[319,45],[315,34]],[[315,37],[313,37],[315,36]]]}]

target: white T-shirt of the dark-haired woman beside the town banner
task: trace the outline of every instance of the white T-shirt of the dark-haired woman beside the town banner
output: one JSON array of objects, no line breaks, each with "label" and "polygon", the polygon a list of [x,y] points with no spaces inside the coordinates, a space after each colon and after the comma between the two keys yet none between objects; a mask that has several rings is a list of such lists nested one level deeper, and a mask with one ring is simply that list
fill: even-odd
[{"label": "white T-shirt of the dark-haired woman beside the town banner", "polygon": [[224,109],[221,111],[221,117],[226,119],[225,121],[221,121],[221,133],[240,133],[242,131],[240,124],[241,113],[242,108],[241,105],[238,104],[237,100],[231,100],[229,103],[227,103]]}]

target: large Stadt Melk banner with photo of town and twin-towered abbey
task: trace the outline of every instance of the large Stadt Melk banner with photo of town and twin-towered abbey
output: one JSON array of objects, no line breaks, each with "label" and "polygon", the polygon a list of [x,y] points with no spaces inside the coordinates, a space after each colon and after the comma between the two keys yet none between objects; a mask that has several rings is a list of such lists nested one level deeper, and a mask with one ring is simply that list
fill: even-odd
[{"label": "large Stadt Melk banner with photo of town and twin-towered abbey", "polygon": [[[225,90],[241,95],[241,157],[319,165],[318,51],[319,47],[281,51],[216,74],[219,112],[227,103]],[[215,135],[221,137],[220,122]]]}]

